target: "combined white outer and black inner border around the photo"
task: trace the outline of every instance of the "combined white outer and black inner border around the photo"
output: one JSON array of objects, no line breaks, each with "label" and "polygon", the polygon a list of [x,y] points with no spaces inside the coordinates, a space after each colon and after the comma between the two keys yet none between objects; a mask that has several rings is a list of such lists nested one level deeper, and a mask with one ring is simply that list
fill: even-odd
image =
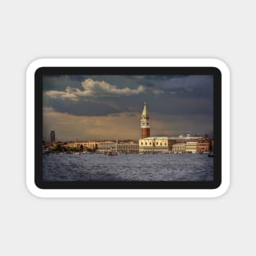
[{"label": "combined white outer and black inner border around the photo", "polygon": [[[84,74],[85,70],[86,74],[213,74],[213,182],[43,182],[43,74]],[[27,186],[29,191],[34,195],[44,197],[221,195],[223,191],[227,191],[229,184],[229,157],[227,158],[227,155],[229,156],[230,153],[229,148],[227,150],[227,142],[229,145],[227,122],[223,129],[224,120],[228,120],[229,128],[229,86],[227,65],[216,59],[41,59],[34,61],[27,70],[27,167],[29,167],[27,168]],[[34,97],[32,97],[33,94]],[[222,104],[223,97],[225,105]],[[225,119],[223,119],[223,114]],[[34,128],[33,132],[31,126]],[[32,134],[34,134],[34,140],[31,138]],[[223,150],[224,159],[222,158]],[[32,162],[34,162],[33,168]],[[225,172],[223,167],[225,167]]]}]

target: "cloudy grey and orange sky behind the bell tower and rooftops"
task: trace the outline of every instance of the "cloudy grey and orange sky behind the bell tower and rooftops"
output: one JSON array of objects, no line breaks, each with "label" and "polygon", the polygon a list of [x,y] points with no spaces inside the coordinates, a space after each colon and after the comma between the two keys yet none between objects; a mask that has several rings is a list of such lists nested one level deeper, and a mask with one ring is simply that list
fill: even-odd
[{"label": "cloudy grey and orange sky behind the bell tower and rooftops", "polygon": [[144,101],[152,136],[213,133],[211,75],[62,75],[43,78],[43,139],[138,139]]}]

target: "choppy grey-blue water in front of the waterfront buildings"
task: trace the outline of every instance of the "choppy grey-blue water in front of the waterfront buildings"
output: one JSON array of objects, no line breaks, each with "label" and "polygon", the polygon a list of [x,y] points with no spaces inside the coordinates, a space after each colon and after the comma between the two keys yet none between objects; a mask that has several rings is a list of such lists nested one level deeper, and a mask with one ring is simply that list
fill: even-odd
[{"label": "choppy grey-blue water in front of the waterfront buildings", "polygon": [[207,154],[43,155],[45,181],[211,181]]}]

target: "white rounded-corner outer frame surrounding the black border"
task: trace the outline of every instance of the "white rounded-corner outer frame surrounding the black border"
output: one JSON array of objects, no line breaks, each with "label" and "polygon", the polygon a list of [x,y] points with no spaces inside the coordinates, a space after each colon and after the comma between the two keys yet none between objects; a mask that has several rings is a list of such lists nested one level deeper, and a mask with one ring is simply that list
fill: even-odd
[{"label": "white rounded-corner outer frame surrounding the black border", "polygon": [[[168,66],[216,67],[222,73],[222,183],[216,189],[40,189],[34,183],[34,73],[47,67],[97,67],[97,66]],[[84,198],[191,198],[218,197],[230,186],[230,72],[218,59],[38,59],[30,63],[26,72],[26,184],[38,197]]]}]

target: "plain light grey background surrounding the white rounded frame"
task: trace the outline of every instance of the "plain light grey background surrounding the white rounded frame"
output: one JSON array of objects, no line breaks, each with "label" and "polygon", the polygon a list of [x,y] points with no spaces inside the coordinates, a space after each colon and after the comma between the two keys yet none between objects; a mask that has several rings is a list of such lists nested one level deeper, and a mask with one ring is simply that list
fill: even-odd
[{"label": "plain light grey background surrounding the white rounded frame", "polygon": [[[0,254],[254,255],[254,12],[253,1],[2,1]],[[225,61],[231,70],[229,191],[216,199],[31,195],[25,70],[41,57]]]}]

